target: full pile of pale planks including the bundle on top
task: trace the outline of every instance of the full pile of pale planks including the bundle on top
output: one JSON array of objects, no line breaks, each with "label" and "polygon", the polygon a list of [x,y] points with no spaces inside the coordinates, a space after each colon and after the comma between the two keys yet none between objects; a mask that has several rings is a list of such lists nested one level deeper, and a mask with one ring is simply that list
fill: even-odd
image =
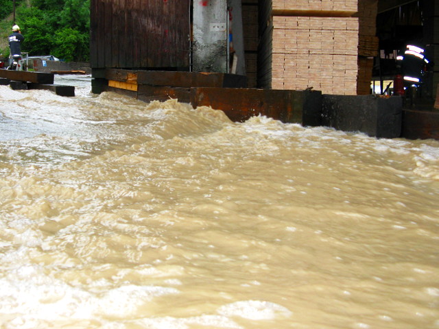
[{"label": "full pile of pale planks including the bundle on top", "polygon": [[[259,22],[266,26],[259,48],[261,87],[357,95],[359,73],[371,72],[371,66],[359,69],[359,1],[368,0],[273,0],[271,8],[265,1]],[[361,42],[370,47],[366,38]]]}]

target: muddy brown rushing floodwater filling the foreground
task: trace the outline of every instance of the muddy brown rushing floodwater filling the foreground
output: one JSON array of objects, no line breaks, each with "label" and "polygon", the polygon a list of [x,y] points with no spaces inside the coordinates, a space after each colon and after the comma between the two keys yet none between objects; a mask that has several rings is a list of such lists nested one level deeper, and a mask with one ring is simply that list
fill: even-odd
[{"label": "muddy brown rushing floodwater filling the foreground", "polygon": [[439,142],[0,86],[0,328],[439,328]]}]

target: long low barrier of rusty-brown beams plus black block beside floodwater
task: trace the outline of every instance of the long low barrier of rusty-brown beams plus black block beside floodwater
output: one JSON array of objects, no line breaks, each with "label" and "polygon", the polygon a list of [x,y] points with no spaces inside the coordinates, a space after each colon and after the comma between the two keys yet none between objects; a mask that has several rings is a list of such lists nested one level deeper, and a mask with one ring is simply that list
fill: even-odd
[{"label": "long low barrier of rusty-brown beams plus black block beside floodwater", "polygon": [[[285,123],[324,125],[377,138],[401,137],[401,97],[322,95],[318,90],[246,88],[243,77],[225,73],[107,69],[95,71],[93,77],[93,93],[112,91],[146,102],[178,99],[191,103],[193,107],[211,106],[222,110],[232,121],[246,121],[252,116],[264,115]],[[109,86],[108,81],[124,84],[111,83]],[[133,84],[136,88],[132,88]],[[406,138],[410,138],[409,120],[405,121],[407,127],[404,131],[407,133],[403,137]],[[431,138],[431,134],[427,138]]]}]

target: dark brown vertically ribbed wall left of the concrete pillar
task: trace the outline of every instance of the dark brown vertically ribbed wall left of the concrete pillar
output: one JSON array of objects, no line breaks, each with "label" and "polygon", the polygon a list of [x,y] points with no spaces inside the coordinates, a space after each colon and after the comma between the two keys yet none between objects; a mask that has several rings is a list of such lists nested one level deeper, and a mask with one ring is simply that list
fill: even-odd
[{"label": "dark brown vertically ribbed wall left of the concrete pillar", "polygon": [[91,0],[93,69],[189,68],[190,0]]}]

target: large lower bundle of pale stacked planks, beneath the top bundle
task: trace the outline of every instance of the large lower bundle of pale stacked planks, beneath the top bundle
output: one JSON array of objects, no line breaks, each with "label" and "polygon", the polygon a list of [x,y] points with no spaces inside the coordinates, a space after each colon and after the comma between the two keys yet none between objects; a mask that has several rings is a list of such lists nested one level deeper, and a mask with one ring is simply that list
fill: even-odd
[{"label": "large lower bundle of pale stacked planks, beneath the top bundle", "polygon": [[358,20],[273,17],[272,88],[355,95]]}]

